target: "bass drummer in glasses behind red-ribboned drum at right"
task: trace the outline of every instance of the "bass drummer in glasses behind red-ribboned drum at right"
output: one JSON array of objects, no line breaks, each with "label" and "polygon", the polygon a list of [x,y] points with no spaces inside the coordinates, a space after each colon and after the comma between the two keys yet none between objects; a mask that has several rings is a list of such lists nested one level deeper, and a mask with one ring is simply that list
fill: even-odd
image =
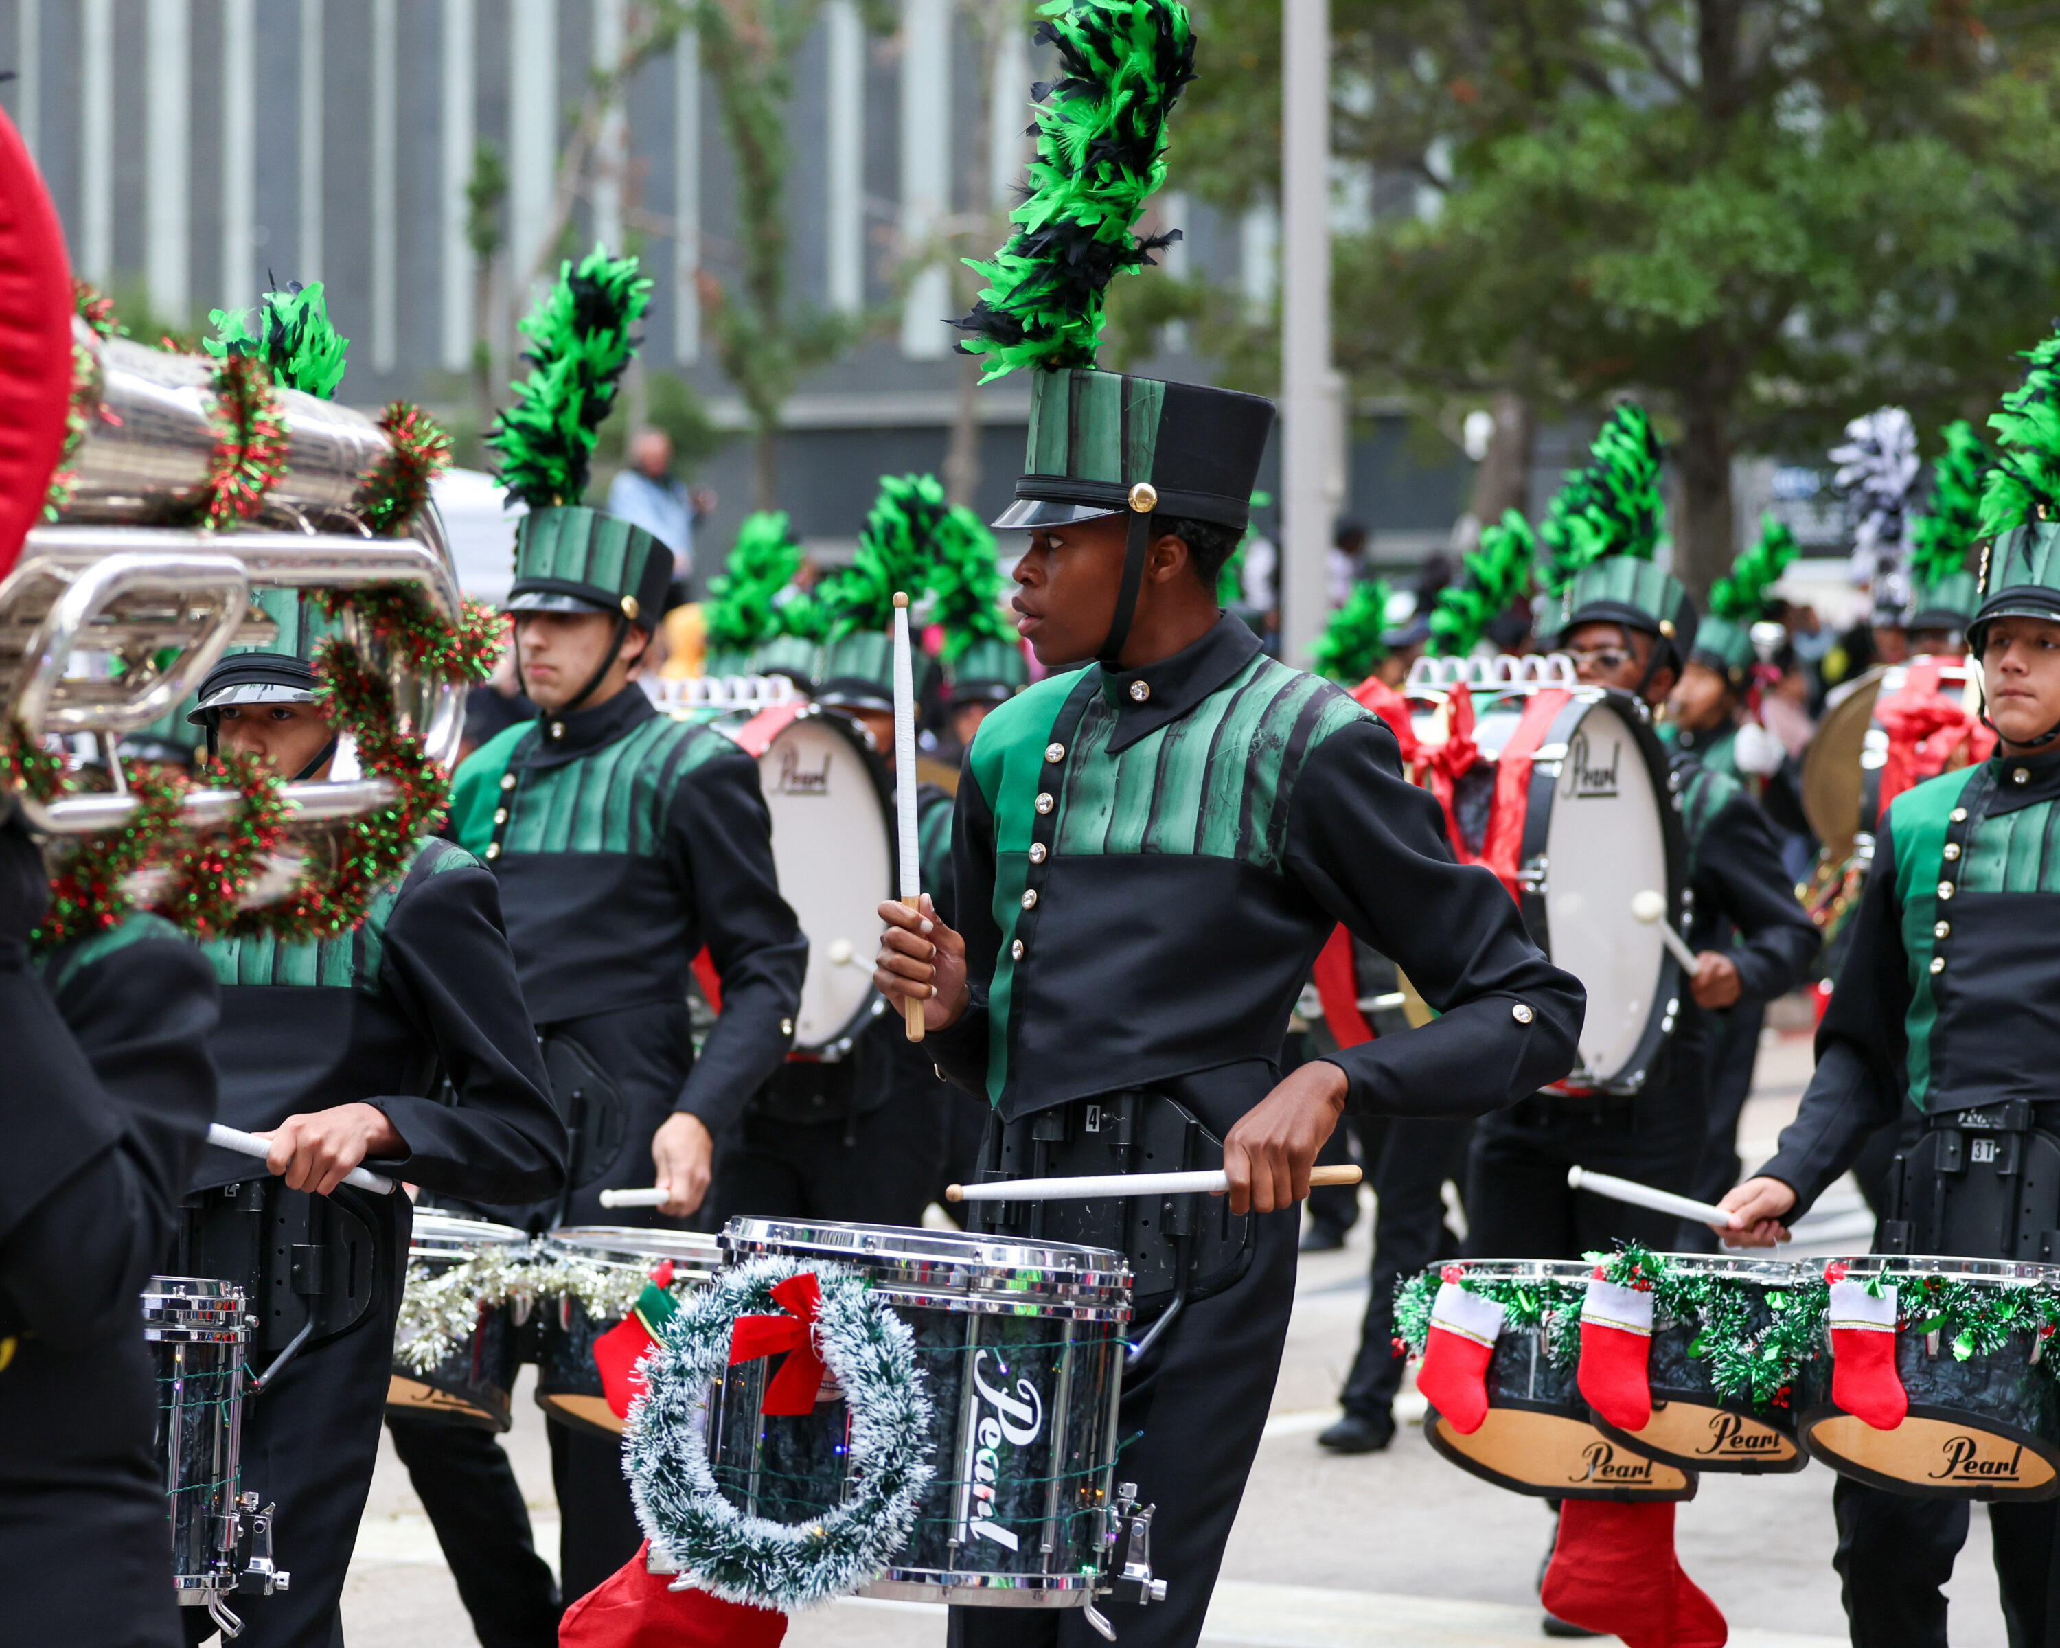
[{"label": "bass drummer in glasses behind red-ribboned drum at right", "polygon": [[[1557,546],[1557,525],[1576,521],[1605,546],[1564,585],[1557,645],[1582,682],[1658,709],[1697,628],[1687,591],[1648,558],[1660,531],[1658,437],[1642,410],[1623,406],[1594,451],[1596,464],[1570,480],[1539,531]],[[1708,1016],[1794,989],[1817,952],[1759,805],[1693,756],[1677,754],[1673,766],[1695,892],[1685,937],[1700,960],[1673,1040],[1636,1096],[1539,1092],[1475,1127],[1469,1255],[1578,1259],[1619,1238],[1671,1248],[1677,1220],[1570,1191],[1566,1170],[1601,1168],[1687,1195],[1708,1117]]]}]

